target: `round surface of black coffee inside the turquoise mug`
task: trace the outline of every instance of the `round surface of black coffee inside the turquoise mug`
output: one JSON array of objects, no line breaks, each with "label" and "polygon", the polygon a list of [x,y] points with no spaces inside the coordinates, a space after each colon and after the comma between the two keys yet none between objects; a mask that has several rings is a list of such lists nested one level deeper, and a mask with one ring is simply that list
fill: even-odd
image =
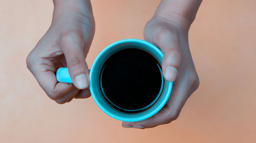
[{"label": "round surface of black coffee inside the turquoise mug", "polygon": [[131,47],[112,54],[101,69],[101,90],[106,101],[125,112],[146,108],[160,92],[160,67],[144,50]]}]

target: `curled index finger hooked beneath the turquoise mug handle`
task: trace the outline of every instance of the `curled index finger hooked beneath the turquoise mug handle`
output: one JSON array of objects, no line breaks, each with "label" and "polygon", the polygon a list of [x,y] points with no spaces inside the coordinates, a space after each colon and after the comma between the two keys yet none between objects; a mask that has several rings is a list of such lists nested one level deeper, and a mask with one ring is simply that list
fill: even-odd
[{"label": "curled index finger hooked beneath the turquoise mug handle", "polygon": [[75,87],[70,83],[57,82],[52,63],[47,59],[40,59],[40,64],[33,64],[31,72],[35,76],[41,88],[52,99],[57,100],[72,91]]}]

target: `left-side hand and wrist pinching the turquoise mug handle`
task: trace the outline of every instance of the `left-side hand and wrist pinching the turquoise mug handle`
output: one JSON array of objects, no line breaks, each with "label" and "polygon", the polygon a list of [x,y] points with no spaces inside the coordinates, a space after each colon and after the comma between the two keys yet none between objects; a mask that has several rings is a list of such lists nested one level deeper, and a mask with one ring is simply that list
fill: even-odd
[{"label": "left-side hand and wrist pinching the turquoise mug handle", "polygon": [[[46,94],[59,104],[90,97],[85,58],[95,22],[90,2],[79,3],[72,2],[76,6],[71,6],[54,2],[52,24],[27,57],[28,69]],[[68,67],[73,84],[57,82],[55,72],[60,67]]]}]

